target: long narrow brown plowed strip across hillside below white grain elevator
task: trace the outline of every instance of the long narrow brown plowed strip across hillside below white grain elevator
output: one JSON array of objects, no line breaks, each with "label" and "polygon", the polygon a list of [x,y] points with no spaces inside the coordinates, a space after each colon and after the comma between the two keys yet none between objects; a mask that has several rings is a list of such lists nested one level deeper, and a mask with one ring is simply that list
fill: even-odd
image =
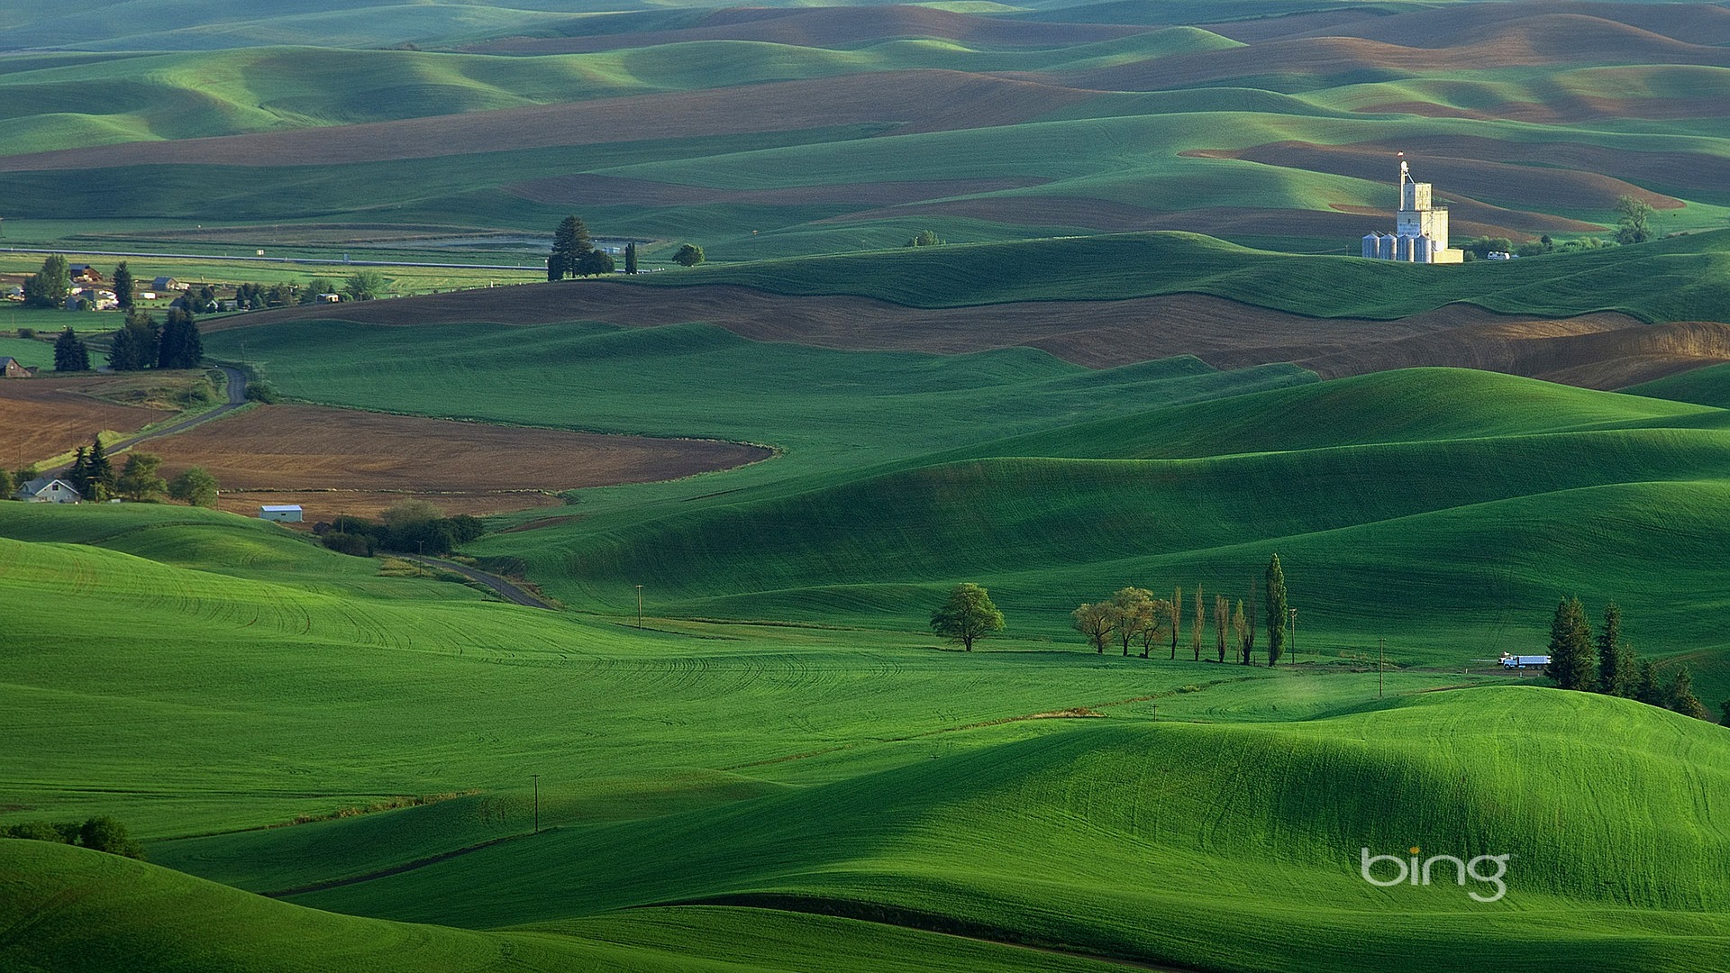
[{"label": "long narrow brown plowed strip across hillside below white grain elevator", "polygon": [[[548,301],[543,287],[562,293]],[[462,291],[339,308],[284,308],[215,325],[332,313],[386,325],[709,322],[753,341],[817,348],[964,355],[1029,346],[1093,369],[1173,355],[1195,355],[1220,369],[1296,362],[1323,377],[1460,365],[1590,388],[1621,388],[1730,360],[1730,325],[1721,324],[1647,325],[1621,313],[1555,320],[1500,315],[1474,305],[1448,305],[1400,320],[1315,319],[1206,294],[927,310],[870,298],[799,298],[735,286],[529,284],[512,287],[505,300],[497,289]]]}]

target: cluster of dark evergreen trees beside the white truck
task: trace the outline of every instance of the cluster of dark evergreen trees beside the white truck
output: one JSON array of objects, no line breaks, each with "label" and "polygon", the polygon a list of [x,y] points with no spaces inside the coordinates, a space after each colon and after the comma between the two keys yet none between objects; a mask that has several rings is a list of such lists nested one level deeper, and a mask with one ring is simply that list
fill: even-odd
[{"label": "cluster of dark evergreen trees beside the white truck", "polygon": [[[1550,665],[1543,667],[1543,673],[1559,689],[1621,696],[1697,720],[1711,718],[1694,694],[1694,673],[1687,663],[1676,667],[1664,682],[1657,665],[1640,658],[1623,639],[1621,627],[1621,608],[1616,602],[1604,608],[1604,627],[1593,635],[1585,604],[1578,597],[1560,599],[1550,618]],[[1725,713],[1721,722],[1730,725],[1730,699],[1720,708]]]}]

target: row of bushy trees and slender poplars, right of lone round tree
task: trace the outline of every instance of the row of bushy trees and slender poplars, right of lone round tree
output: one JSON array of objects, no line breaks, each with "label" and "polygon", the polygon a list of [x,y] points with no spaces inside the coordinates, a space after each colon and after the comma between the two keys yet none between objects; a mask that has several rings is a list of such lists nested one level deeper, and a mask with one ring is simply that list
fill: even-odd
[{"label": "row of bushy trees and slender poplars, right of lone round tree", "polygon": [[[1285,654],[1285,620],[1291,606],[1285,597],[1285,571],[1280,568],[1280,556],[1268,561],[1266,578],[1261,583],[1265,602],[1265,620],[1268,632],[1268,665],[1278,665]],[[1208,599],[1202,585],[1195,585],[1192,596],[1195,622],[1190,625],[1190,660],[1201,661],[1202,642],[1206,642]],[[1247,606],[1246,606],[1247,604]],[[1100,602],[1083,602],[1074,609],[1074,627],[1088,637],[1093,651],[1104,654],[1107,644],[1121,646],[1123,654],[1130,654],[1131,646],[1140,646],[1140,658],[1150,658],[1156,646],[1168,648],[1168,658],[1178,658],[1178,642],[1183,637],[1183,589],[1171,592],[1169,599],[1156,597],[1154,592],[1138,587],[1119,589],[1118,594]],[[1253,665],[1256,651],[1256,583],[1249,585],[1249,599],[1235,604],[1223,594],[1213,596],[1213,653],[1214,661],[1225,661],[1227,653],[1239,665]]]}]

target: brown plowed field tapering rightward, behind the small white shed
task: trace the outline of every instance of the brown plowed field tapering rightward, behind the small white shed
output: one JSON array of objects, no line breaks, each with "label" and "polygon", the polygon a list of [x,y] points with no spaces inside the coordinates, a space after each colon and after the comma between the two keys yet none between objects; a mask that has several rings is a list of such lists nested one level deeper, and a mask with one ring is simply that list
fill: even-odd
[{"label": "brown plowed field tapering rightward, behind the small white shed", "polygon": [[604,436],[317,405],[266,405],[140,447],[175,474],[202,466],[225,507],[301,504],[308,519],[372,514],[405,497],[446,512],[557,504],[550,493],[728,469],[770,450],[711,440]]}]

